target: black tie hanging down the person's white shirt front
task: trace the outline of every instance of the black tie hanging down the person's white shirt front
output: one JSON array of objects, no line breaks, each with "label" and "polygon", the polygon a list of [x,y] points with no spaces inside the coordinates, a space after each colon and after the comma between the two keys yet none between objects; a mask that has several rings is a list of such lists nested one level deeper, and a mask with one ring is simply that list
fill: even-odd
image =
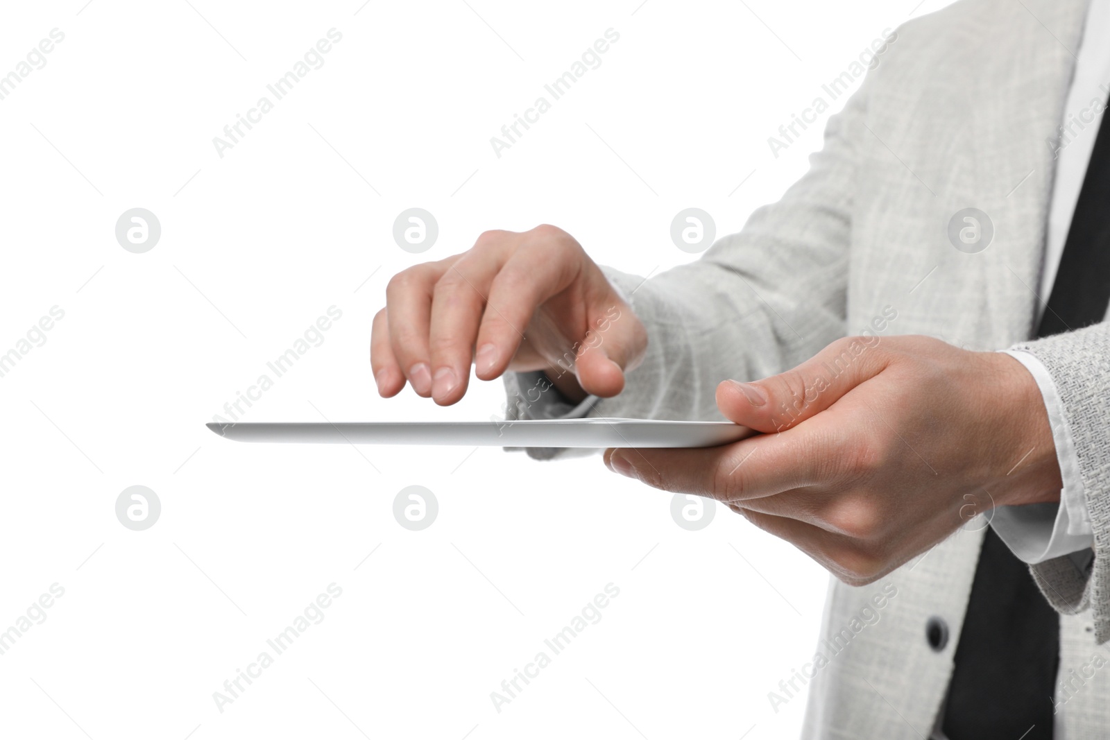
[{"label": "black tie hanging down the person's white shirt front", "polygon": [[[1038,337],[1090,326],[1106,317],[1110,303],[1108,202],[1110,124],[1103,121]],[[1029,740],[1052,737],[1052,707],[1042,699],[1054,693],[1060,622],[1025,565],[993,529],[987,533],[948,687],[944,731],[949,740],[1019,733]]]}]

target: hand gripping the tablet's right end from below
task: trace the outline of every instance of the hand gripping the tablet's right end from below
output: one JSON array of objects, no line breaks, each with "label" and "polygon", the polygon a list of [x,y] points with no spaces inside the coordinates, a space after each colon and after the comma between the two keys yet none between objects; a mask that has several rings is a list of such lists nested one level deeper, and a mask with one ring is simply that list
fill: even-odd
[{"label": "hand gripping the tablet's right end from below", "polygon": [[726,503],[840,580],[887,575],[998,505],[1059,500],[1040,391],[1015,358],[924,336],[849,337],[717,406],[766,435],[610,449],[610,469]]}]

